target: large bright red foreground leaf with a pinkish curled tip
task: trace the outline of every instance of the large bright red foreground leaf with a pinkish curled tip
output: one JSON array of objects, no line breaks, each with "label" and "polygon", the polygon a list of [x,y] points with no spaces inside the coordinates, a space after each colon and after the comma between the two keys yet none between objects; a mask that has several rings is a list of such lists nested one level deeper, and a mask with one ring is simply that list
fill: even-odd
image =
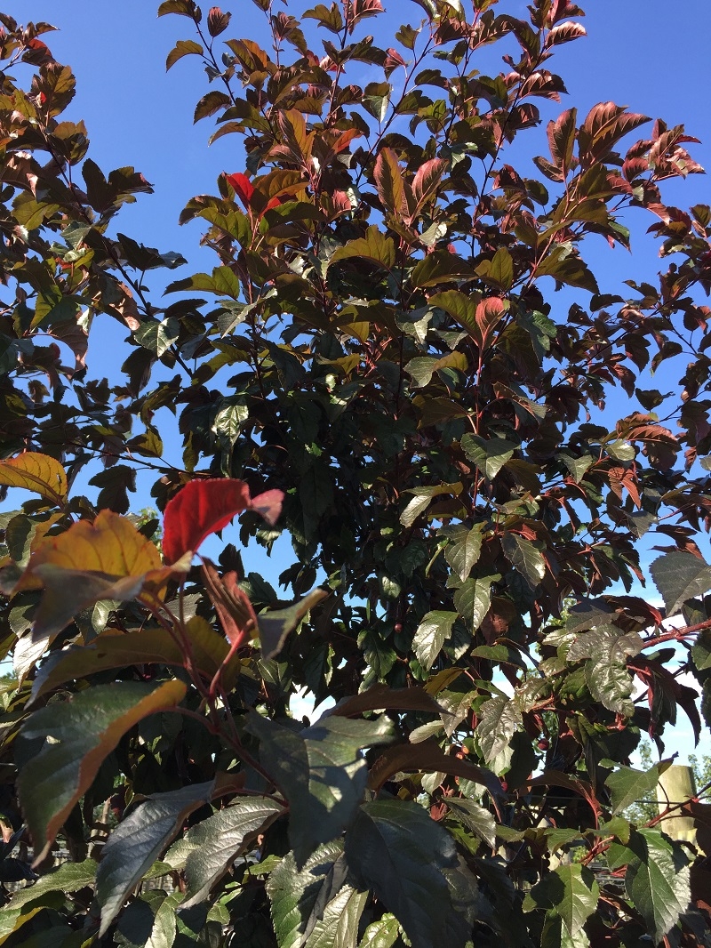
[{"label": "large bright red foreground leaf with a pinkish curled tip", "polygon": [[281,491],[252,498],[243,481],[231,478],[195,480],[186,484],[165,508],[163,553],[169,563],[194,553],[211,533],[226,527],[244,510],[256,510],[273,526],[282,511]]}]

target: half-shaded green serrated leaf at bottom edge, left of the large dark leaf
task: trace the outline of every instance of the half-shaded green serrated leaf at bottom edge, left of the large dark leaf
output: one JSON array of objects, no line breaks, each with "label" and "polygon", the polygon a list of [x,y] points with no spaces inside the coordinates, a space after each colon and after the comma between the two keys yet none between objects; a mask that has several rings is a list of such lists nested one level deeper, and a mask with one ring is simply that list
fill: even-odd
[{"label": "half-shaded green serrated leaf at bottom edge, left of the large dark leaf", "polygon": [[279,948],[301,948],[311,934],[316,906],[326,902],[333,890],[334,863],[341,852],[340,841],[321,846],[302,869],[289,852],[269,876],[266,892]]}]

